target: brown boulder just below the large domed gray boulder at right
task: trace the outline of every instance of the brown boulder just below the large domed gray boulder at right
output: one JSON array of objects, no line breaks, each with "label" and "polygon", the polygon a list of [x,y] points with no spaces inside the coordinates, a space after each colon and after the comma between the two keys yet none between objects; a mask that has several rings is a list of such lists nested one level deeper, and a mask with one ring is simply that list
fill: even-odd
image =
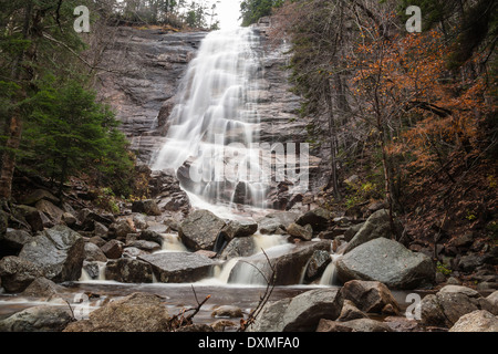
[{"label": "brown boulder just below the large domed gray boulder at right", "polygon": [[342,289],[342,296],[351,300],[360,310],[367,313],[382,313],[386,305],[396,312],[400,305],[386,285],[378,281],[351,280]]}]

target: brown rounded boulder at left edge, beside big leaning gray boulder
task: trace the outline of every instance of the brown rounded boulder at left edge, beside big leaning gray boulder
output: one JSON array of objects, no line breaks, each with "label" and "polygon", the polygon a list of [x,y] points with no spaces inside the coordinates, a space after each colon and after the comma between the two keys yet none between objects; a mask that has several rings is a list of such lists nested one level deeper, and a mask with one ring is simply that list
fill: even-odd
[{"label": "brown rounded boulder at left edge, beside big leaning gray boulder", "polygon": [[8,256],[0,260],[1,284],[7,292],[22,292],[40,277],[43,277],[42,270],[27,259]]}]

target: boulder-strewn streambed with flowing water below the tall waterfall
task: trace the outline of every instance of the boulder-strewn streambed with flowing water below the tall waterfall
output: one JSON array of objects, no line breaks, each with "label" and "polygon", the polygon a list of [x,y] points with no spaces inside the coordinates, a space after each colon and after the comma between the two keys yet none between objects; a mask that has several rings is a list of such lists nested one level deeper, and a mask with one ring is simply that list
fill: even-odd
[{"label": "boulder-strewn streambed with flowing water below the tall waterfall", "polygon": [[[432,260],[392,239],[384,209],[364,220],[304,206],[227,220],[188,204],[167,210],[160,195],[120,216],[71,211],[48,190],[11,205],[1,331],[236,331],[258,306],[247,331],[496,331],[498,293],[435,288]],[[193,323],[172,327],[205,299]]]}]

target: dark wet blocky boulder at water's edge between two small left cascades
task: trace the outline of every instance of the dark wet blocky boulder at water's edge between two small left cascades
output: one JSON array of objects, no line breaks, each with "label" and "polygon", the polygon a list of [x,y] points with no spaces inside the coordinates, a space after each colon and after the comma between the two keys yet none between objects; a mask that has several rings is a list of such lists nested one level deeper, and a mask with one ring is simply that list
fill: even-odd
[{"label": "dark wet blocky boulder at water's edge between two small left cascades", "polygon": [[105,267],[105,279],[121,283],[152,283],[153,270],[149,263],[136,259],[110,260]]}]

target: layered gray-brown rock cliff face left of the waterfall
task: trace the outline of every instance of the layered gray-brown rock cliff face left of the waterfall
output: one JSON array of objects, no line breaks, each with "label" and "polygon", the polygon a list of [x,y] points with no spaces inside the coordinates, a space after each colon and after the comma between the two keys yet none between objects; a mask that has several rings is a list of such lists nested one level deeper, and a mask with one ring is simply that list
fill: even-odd
[{"label": "layered gray-brown rock cliff face left of the waterfall", "polygon": [[144,163],[151,160],[162,144],[172,98],[205,35],[205,32],[165,34],[158,30],[110,29],[103,62],[114,71],[100,75],[98,93],[117,112],[121,128]]}]

